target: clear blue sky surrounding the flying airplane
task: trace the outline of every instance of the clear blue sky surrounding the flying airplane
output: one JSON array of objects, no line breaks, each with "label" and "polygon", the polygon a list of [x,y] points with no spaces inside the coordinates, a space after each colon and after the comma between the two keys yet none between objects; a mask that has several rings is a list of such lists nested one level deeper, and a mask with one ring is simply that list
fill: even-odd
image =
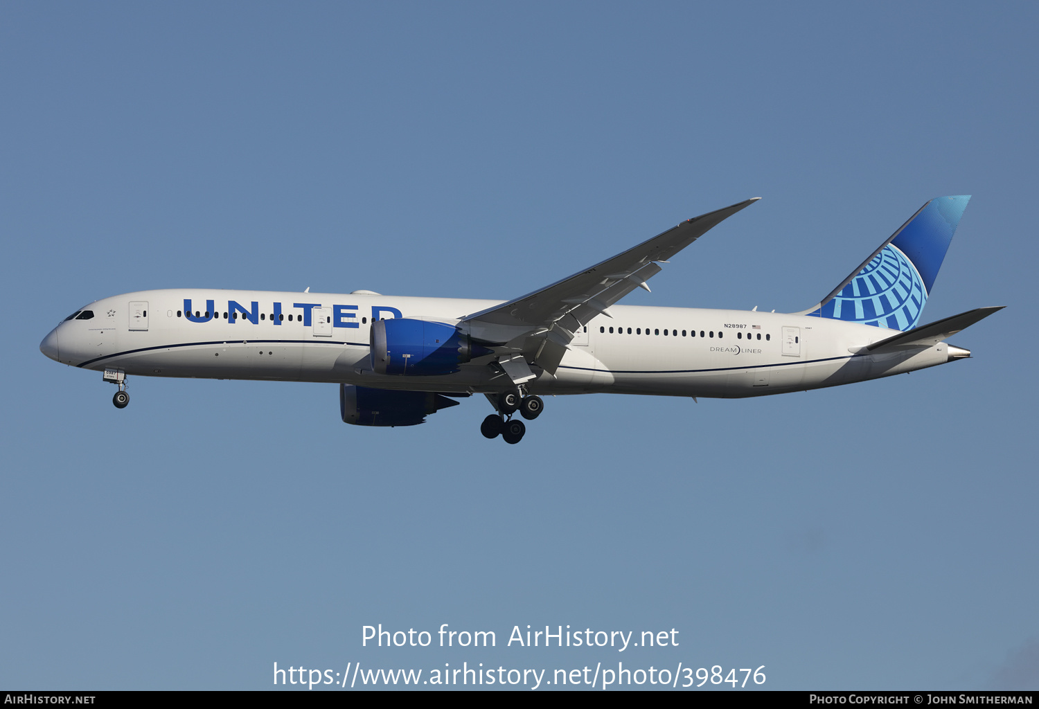
[{"label": "clear blue sky surrounding the flying airplane", "polygon": [[[0,685],[681,661],[1039,687],[1034,4],[2,13]],[[550,399],[515,446],[482,399],[365,429],[331,385],[135,378],[118,411],[37,350],[153,288],[510,298],[751,196],[623,302],[800,310],[945,194],[974,198],[924,320],[1007,305],[952,340],[975,359]],[[499,642],[363,648],[379,623]],[[528,624],[680,646],[504,647]]]}]

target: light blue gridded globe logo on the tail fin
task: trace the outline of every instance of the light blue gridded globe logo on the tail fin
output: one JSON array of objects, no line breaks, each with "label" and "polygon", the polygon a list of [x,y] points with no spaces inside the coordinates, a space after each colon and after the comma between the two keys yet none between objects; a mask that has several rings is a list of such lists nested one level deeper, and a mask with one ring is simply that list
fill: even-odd
[{"label": "light blue gridded globe logo on the tail fin", "polygon": [[840,294],[810,315],[910,330],[920,321],[927,290],[912,262],[888,244]]}]

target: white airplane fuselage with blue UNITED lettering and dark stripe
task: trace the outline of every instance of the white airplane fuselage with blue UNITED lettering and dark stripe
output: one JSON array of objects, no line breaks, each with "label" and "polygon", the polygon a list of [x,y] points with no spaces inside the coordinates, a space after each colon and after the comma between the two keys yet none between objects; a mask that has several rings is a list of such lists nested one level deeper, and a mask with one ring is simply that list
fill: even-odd
[{"label": "white airplane fuselage with blue UNITED lettering and dark stripe", "polygon": [[[94,317],[62,322],[42,349],[65,364],[121,370],[126,375],[489,393],[508,388],[508,380],[487,366],[492,356],[462,364],[455,374],[375,374],[368,364],[369,331],[373,319],[456,322],[499,302],[368,294],[142,291],[84,306]],[[897,331],[800,315],[634,305],[614,305],[610,315],[582,328],[554,375],[534,367],[537,377],[527,389],[538,394],[742,398],[846,384],[951,359],[944,343],[871,355],[863,351],[865,346]]]}]

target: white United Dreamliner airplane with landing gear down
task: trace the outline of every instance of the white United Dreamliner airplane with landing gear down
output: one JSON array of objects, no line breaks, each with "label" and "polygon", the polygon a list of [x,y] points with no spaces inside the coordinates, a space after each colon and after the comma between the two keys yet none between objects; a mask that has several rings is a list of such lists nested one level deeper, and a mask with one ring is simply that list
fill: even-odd
[{"label": "white United Dreamliner airplane with landing gear down", "polygon": [[[913,372],[970,356],[945,339],[1002,306],[918,326],[969,195],[928,201],[818,304],[792,313],[618,305],[747,199],[512,300],[169,289],[84,305],[41,343],[127,378],[339,384],[356,426],[414,426],[484,394],[487,438],[518,443],[548,394],[739,399]],[[520,413],[520,417],[515,414]]]}]

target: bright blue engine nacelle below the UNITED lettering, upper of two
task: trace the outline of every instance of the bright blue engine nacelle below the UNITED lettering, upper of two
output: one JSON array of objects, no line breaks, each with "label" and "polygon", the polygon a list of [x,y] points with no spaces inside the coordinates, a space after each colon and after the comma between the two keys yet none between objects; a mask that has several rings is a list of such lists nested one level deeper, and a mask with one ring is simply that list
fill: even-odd
[{"label": "bright blue engine nacelle below the UNITED lettering, upper of two", "polygon": [[494,354],[454,325],[407,318],[372,323],[371,347],[376,373],[412,376],[451,374],[474,357]]}]

